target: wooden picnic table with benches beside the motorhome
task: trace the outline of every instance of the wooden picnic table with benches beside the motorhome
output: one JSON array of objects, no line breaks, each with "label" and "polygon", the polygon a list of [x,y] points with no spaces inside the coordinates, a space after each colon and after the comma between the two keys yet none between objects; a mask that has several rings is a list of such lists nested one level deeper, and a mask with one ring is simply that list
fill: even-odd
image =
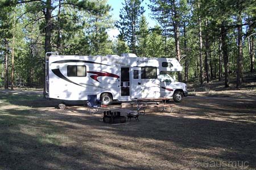
[{"label": "wooden picnic table with benches beside the motorhome", "polygon": [[[137,98],[133,99],[135,102],[130,103],[131,108],[133,108],[133,105],[136,104],[137,106],[137,112],[140,113],[141,109],[143,109],[143,114],[146,112],[146,108],[162,108],[162,111],[165,111],[166,108],[170,108],[170,112],[172,113],[172,110],[174,108],[174,104],[167,104],[166,101],[170,100],[167,97],[158,97],[158,98]],[[160,102],[159,102],[160,101]]]}]

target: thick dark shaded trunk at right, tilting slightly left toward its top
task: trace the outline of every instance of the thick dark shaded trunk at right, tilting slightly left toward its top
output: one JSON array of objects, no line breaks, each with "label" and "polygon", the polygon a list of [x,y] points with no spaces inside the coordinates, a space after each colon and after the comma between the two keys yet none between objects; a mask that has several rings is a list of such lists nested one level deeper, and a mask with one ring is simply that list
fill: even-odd
[{"label": "thick dark shaded trunk at right, tilting slightly left toward its top", "polygon": [[224,70],[225,70],[225,87],[229,87],[229,56],[228,56],[228,44],[227,44],[227,29],[225,28],[225,22],[221,23],[221,41],[222,41],[222,53],[224,58]]}]

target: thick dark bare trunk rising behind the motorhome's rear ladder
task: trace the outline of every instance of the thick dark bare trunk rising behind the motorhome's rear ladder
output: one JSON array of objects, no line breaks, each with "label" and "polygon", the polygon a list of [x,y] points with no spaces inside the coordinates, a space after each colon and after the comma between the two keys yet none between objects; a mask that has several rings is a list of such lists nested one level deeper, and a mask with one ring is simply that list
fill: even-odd
[{"label": "thick dark bare trunk rising behind the motorhome's rear ladder", "polygon": [[[51,23],[51,0],[46,1],[46,28],[45,28],[45,40],[44,40],[44,52],[51,52],[51,35],[52,35],[52,23]],[[44,70],[46,70],[46,65],[44,64]],[[44,71],[44,97],[46,97],[46,72]]]}]

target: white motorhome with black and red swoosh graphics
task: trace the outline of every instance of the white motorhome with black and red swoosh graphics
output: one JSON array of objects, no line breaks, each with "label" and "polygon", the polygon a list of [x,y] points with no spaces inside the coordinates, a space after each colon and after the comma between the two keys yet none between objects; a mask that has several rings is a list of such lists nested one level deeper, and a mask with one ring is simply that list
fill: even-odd
[{"label": "white motorhome with black and red swoosh graphics", "polygon": [[181,102],[187,86],[170,73],[181,71],[175,58],[146,58],[135,54],[60,56],[46,54],[46,97],[87,100],[97,95],[104,105],[112,101],[168,97]]}]

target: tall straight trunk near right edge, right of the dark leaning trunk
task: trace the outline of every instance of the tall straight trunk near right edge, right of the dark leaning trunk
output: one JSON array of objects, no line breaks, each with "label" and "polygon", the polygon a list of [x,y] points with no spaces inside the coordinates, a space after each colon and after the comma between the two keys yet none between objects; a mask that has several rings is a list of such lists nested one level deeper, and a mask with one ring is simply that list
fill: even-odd
[{"label": "tall straight trunk near right edge, right of the dark leaning trunk", "polygon": [[242,18],[241,18],[241,11],[238,12],[237,15],[237,44],[238,44],[238,54],[237,54],[237,88],[240,88],[242,85]]}]

